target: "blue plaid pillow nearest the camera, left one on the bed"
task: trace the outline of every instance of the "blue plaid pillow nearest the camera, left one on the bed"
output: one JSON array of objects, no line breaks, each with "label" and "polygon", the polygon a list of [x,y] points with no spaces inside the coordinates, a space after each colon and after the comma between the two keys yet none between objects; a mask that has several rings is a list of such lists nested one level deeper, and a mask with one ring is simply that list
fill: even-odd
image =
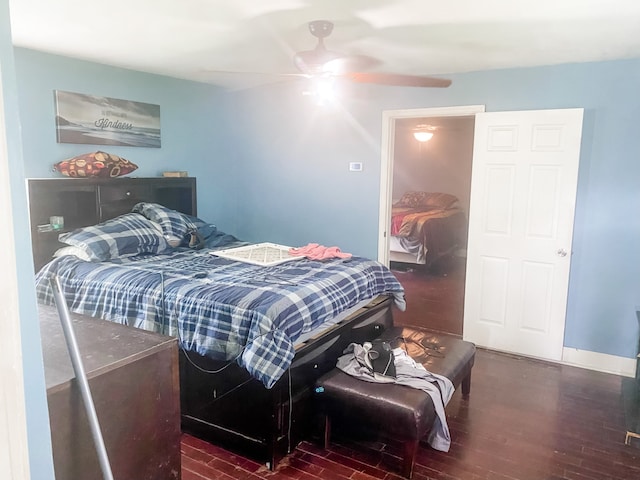
[{"label": "blue plaid pillow nearest the camera, left one on the bed", "polygon": [[92,262],[162,253],[171,248],[158,227],[138,213],[126,213],[98,225],[63,233],[58,240],[82,249]]}]

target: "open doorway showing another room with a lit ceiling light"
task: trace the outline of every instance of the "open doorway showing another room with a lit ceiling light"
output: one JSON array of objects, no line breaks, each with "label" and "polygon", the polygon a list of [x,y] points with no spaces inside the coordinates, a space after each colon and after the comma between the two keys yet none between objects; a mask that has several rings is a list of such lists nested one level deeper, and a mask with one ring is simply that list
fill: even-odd
[{"label": "open doorway showing another room with a lit ceiling light", "polygon": [[[474,124],[482,111],[385,112],[379,256],[405,287],[399,325],[462,336]],[[418,131],[433,135],[420,142]]]}]

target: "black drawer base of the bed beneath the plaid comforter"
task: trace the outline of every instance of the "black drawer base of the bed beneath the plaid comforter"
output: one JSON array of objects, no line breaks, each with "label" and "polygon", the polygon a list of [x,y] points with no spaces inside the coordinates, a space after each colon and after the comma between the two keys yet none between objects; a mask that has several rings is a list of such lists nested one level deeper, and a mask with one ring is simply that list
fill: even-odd
[{"label": "black drawer base of the bed beneath the plaid comforter", "polygon": [[193,353],[180,355],[183,428],[266,463],[271,469],[317,432],[313,388],[351,342],[363,343],[393,325],[391,300],[380,297],[296,349],[293,364],[266,389],[237,364],[225,367]]}]

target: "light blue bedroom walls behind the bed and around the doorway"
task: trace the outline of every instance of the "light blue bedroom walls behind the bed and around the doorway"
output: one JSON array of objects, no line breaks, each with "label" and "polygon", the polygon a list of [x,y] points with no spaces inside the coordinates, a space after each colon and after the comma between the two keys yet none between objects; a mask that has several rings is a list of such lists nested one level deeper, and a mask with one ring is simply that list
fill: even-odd
[{"label": "light blue bedroom walls behind the bed and around the doorway", "polygon": [[[319,108],[301,84],[215,87],[16,49],[25,171],[50,176],[96,148],[55,142],[53,90],[161,105],[161,149],[109,148],[198,177],[199,213],[253,241],[339,245],[377,255],[384,110],[484,104],[487,111],[585,109],[565,346],[632,358],[640,305],[640,60],[453,75],[448,89],[345,85]],[[362,162],[361,173],[348,171]]]}]

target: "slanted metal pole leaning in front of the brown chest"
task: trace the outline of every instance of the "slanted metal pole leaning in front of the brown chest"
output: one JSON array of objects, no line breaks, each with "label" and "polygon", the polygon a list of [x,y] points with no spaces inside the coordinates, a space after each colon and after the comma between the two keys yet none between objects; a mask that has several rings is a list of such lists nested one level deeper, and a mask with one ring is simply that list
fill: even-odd
[{"label": "slanted metal pole leaning in front of the brown chest", "polygon": [[93,441],[96,445],[98,460],[100,461],[100,468],[102,469],[102,476],[104,480],[113,480],[111,465],[109,464],[109,457],[107,456],[107,449],[104,446],[100,424],[98,423],[98,416],[96,415],[96,408],[93,404],[93,398],[91,397],[91,390],[89,390],[89,382],[87,381],[87,375],[84,371],[84,366],[82,365],[82,358],[80,357],[80,350],[78,349],[76,336],[73,332],[71,316],[69,315],[69,307],[64,299],[62,288],[60,287],[60,281],[56,275],[52,276],[50,283],[53,290],[53,298],[55,299],[56,307],[58,308],[60,323],[62,323],[65,340],[67,341],[67,348],[69,350],[69,356],[71,357],[71,363],[73,364],[73,370],[76,374],[78,386],[80,387],[80,393],[82,394],[85,410],[87,411],[89,427],[91,427],[91,434],[93,435]]}]

